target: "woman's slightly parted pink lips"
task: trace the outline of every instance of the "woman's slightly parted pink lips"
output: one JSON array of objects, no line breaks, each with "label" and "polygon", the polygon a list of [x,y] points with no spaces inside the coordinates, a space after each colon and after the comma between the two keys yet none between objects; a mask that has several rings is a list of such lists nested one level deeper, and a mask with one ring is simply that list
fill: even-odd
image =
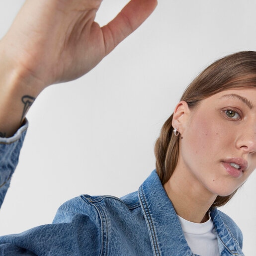
[{"label": "woman's slightly parted pink lips", "polygon": [[[243,175],[243,172],[248,167],[248,162],[242,158],[229,158],[222,160],[222,165],[226,169],[226,171],[233,177],[239,178]],[[236,169],[235,167],[232,167],[230,164],[234,163],[240,166],[240,169]]]}]

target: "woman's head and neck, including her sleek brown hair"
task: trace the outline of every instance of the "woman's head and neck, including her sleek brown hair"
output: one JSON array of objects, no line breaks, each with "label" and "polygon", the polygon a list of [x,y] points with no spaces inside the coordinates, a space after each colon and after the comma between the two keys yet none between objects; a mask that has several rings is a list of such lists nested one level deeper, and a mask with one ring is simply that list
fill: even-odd
[{"label": "woman's head and neck, including her sleek brown hair", "polygon": [[[162,128],[157,172],[175,212],[186,220],[207,221],[207,209],[226,204],[256,167],[255,57],[240,52],[209,66]],[[187,240],[193,244],[193,236]]]}]

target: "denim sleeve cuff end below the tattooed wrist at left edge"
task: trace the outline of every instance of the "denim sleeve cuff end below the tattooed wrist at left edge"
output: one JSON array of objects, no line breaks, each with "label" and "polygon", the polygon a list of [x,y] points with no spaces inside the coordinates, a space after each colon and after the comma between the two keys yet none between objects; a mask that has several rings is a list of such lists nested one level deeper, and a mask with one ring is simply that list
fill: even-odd
[{"label": "denim sleeve cuff end below the tattooed wrist at left edge", "polygon": [[0,138],[0,206],[10,185],[11,176],[18,164],[20,149],[25,138],[28,122],[10,138]]}]

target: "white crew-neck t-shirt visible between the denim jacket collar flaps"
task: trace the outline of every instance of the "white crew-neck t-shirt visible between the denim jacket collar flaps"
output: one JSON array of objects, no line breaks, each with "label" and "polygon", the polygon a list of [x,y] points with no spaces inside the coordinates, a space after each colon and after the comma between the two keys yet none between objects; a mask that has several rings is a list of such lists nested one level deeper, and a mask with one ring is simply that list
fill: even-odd
[{"label": "white crew-neck t-shirt visible between the denim jacket collar flaps", "polygon": [[219,256],[217,234],[209,214],[204,223],[194,223],[178,216],[184,236],[193,254]]}]

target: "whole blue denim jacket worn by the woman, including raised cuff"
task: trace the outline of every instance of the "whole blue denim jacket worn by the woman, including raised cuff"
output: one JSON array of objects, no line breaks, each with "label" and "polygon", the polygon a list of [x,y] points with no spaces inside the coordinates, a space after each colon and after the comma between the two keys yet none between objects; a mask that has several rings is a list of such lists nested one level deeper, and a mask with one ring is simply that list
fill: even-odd
[{"label": "whole blue denim jacket worn by the woman, including raised cuff", "polygon": [[[27,123],[0,139],[0,201],[17,165]],[[242,233],[211,209],[221,256],[242,256]],[[64,203],[52,224],[0,237],[0,255],[192,256],[178,217],[153,171],[137,192],[122,198],[81,195]]]}]

